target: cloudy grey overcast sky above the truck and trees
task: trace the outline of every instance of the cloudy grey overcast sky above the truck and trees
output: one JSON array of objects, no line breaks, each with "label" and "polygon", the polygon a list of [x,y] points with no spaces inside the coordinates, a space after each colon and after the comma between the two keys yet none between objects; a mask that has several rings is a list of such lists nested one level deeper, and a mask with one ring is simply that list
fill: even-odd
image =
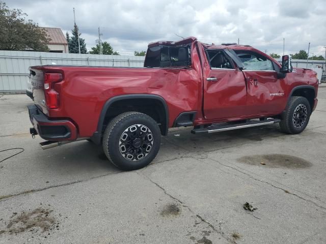
[{"label": "cloudy grey overcast sky above the truck and trees", "polygon": [[325,0],[7,0],[40,26],[59,27],[64,34],[76,23],[87,49],[102,40],[121,54],[146,50],[158,40],[179,40],[175,34],[197,37],[205,43],[237,42],[267,53],[324,55],[326,45]]}]

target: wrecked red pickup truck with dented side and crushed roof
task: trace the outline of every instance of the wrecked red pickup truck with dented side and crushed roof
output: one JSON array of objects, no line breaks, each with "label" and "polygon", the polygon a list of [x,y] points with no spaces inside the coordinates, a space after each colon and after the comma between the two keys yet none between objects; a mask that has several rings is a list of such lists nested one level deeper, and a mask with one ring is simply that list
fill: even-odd
[{"label": "wrecked red pickup truck with dented side and crushed roof", "polygon": [[30,67],[35,105],[32,136],[43,149],[91,140],[123,170],[156,156],[171,127],[213,133],[280,123],[302,132],[317,105],[316,73],[282,65],[235,43],[209,45],[190,37],[150,43],[144,68]]}]

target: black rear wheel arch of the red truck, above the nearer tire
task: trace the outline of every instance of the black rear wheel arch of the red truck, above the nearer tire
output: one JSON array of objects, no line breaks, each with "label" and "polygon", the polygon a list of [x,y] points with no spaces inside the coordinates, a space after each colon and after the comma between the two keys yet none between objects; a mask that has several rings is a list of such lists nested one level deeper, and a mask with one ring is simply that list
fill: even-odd
[{"label": "black rear wheel arch of the red truck, above the nearer tire", "polygon": [[[147,109],[149,107],[150,109]],[[113,111],[111,108],[115,108],[115,110]],[[151,116],[159,124],[161,134],[168,134],[169,108],[164,98],[153,94],[127,94],[110,98],[104,103],[98,119],[97,131],[91,138],[92,141],[100,144],[105,123],[112,117],[127,111],[139,111]]]}]

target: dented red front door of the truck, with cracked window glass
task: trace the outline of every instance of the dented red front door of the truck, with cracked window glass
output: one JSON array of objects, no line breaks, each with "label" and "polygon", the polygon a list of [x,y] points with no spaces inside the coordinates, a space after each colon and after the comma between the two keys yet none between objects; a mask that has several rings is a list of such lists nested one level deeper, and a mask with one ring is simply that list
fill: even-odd
[{"label": "dented red front door of the truck, with cracked window glass", "polygon": [[281,112],[286,104],[286,81],[278,79],[279,67],[266,56],[235,50],[242,61],[247,82],[247,108],[250,114]]}]

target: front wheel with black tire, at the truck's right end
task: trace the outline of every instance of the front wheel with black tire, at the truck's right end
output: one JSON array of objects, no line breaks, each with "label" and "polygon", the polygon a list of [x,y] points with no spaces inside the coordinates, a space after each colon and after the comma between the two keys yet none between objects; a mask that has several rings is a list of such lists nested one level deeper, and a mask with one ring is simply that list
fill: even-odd
[{"label": "front wheel with black tire, at the truck's right end", "polygon": [[[297,111],[296,111],[297,110]],[[311,108],[304,97],[291,97],[280,122],[281,131],[288,134],[299,134],[308,125]]]}]

